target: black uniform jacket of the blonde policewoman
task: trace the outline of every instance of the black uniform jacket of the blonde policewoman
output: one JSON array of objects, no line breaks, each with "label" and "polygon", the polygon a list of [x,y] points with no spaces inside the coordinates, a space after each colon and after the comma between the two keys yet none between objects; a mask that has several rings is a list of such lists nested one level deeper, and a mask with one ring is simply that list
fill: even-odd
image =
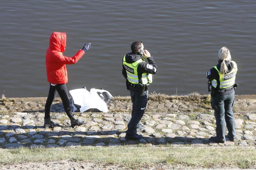
[{"label": "black uniform jacket of the blonde policewoman", "polygon": [[[221,62],[222,60],[219,60],[218,61],[219,63],[217,64],[217,68],[218,70],[220,70],[221,68]],[[228,67],[228,70],[227,70],[227,73],[231,72],[232,69],[234,68],[234,65],[232,62],[230,61],[225,61],[225,64],[226,66]],[[217,72],[217,70],[215,68],[211,68],[207,73],[206,73],[206,77],[209,79],[209,80],[217,80],[217,87],[216,87],[216,90],[217,90],[217,93],[219,94],[230,94],[230,93],[233,93],[234,92],[234,88],[233,86],[228,88],[228,89],[219,89],[219,73]]]}]

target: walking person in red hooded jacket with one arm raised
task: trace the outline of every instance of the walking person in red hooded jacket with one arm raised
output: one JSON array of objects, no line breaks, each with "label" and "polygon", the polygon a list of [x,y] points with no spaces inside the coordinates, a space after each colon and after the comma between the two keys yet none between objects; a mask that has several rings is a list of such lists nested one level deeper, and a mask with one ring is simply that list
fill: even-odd
[{"label": "walking person in red hooded jacket with one arm raised", "polygon": [[85,123],[85,120],[78,119],[73,115],[68,97],[66,83],[68,82],[68,72],[66,64],[75,64],[84,53],[91,48],[91,43],[84,44],[73,57],[66,57],[62,52],[66,48],[66,33],[53,32],[50,36],[49,47],[46,51],[46,72],[47,81],[50,82],[49,94],[45,104],[44,128],[53,128],[53,123],[50,118],[51,104],[58,92],[62,100],[64,109],[71,121],[72,128],[76,125],[80,126]]}]

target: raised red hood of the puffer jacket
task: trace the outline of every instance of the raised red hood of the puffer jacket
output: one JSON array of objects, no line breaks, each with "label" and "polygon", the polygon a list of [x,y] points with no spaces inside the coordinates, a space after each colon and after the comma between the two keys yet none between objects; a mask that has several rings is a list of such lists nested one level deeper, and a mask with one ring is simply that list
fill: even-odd
[{"label": "raised red hood of the puffer jacket", "polygon": [[53,32],[50,35],[49,47],[52,50],[56,50],[58,52],[64,52],[66,48],[66,33]]}]

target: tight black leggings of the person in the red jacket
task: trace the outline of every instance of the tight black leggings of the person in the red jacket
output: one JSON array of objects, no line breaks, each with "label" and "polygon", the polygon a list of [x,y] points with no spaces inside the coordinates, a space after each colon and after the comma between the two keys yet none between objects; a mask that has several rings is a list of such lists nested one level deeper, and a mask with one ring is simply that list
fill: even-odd
[{"label": "tight black leggings of the person in the red jacket", "polygon": [[66,84],[57,84],[55,86],[52,86],[50,84],[49,94],[45,104],[45,118],[50,117],[51,104],[53,103],[57,92],[60,95],[66,114],[69,118],[73,117],[73,113],[69,104],[68,90]]}]

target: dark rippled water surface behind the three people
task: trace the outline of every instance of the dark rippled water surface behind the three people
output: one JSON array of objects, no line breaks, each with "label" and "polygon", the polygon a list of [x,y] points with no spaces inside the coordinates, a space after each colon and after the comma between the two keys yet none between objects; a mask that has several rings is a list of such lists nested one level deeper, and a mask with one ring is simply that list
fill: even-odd
[{"label": "dark rippled water surface behind the three people", "polygon": [[256,1],[1,1],[0,94],[46,97],[45,53],[52,32],[66,32],[68,89],[104,88],[127,96],[122,58],[143,41],[158,66],[150,91],[207,92],[205,73],[227,46],[237,62],[236,94],[256,94]]}]

